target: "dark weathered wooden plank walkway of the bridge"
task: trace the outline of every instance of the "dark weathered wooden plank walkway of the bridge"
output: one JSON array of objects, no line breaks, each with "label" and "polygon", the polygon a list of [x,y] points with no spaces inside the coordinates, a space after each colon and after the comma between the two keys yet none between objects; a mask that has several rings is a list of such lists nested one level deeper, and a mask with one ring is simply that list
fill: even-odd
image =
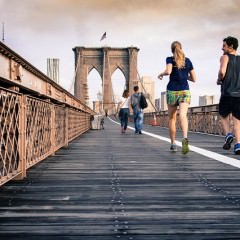
[{"label": "dark weathered wooden plank walkway of the bridge", "polygon": [[[168,130],[144,126],[168,137]],[[222,137],[191,133],[221,150]],[[179,138],[180,139],[180,138]],[[239,158],[239,157],[238,157]],[[0,188],[0,239],[240,239],[240,171],[109,120]]]}]

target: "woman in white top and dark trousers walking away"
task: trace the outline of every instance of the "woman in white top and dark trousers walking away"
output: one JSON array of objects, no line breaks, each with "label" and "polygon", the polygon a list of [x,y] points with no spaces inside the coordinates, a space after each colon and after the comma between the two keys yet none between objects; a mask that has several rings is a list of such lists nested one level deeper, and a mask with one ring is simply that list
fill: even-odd
[{"label": "woman in white top and dark trousers walking away", "polygon": [[119,119],[121,121],[121,132],[125,133],[128,126],[130,97],[129,91],[124,90],[119,110]]}]

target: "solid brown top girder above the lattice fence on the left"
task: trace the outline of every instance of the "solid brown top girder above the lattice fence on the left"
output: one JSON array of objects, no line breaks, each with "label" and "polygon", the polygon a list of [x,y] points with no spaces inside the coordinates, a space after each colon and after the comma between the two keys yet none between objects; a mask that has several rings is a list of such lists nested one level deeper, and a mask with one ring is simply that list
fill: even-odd
[{"label": "solid brown top girder above the lattice fence on the left", "polygon": [[30,64],[0,41],[0,84],[39,98],[47,98],[58,103],[85,110],[93,114],[91,108],[48,76]]}]

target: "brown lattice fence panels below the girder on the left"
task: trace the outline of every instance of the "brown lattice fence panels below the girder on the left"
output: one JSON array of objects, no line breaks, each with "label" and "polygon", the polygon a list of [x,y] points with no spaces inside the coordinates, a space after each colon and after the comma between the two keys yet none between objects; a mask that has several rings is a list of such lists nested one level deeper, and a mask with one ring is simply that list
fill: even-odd
[{"label": "brown lattice fence panels below the girder on the left", "polygon": [[90,128],[89,111],[0,88],[0,185]]}]

